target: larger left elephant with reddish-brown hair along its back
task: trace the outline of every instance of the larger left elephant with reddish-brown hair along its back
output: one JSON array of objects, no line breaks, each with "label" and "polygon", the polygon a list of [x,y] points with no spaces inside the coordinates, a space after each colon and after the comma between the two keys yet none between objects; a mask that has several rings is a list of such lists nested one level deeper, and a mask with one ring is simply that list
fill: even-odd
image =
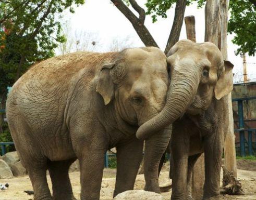
[{"label": "larger left elephant with reddish-brown hair along its back", "polygon": [[[34,199],[75,199],[68,168],[76,158],[81,200],[99,199],[104,154],[114,146],[114,196],[132,190],[143,149],[136,131],[163,109],[167,86],[166,57],[154,47],[76,52],[34,65],[13,86],[6,111]],[[169,139],[166,128],[145,141],[147,190],[160,192],[157,167]]]}]

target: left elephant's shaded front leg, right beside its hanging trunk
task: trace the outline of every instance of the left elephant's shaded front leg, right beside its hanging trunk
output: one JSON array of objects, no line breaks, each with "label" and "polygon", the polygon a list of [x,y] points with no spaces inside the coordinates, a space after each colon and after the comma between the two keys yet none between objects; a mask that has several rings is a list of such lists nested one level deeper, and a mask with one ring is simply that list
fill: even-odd
[{"label": "left elephant's shaded front leg, right beside its hanging trunk", "polygon": [[117,145],[117,174],[114,197],[124,191],[133,190],[142,159],[143,141],[137,138]]}]

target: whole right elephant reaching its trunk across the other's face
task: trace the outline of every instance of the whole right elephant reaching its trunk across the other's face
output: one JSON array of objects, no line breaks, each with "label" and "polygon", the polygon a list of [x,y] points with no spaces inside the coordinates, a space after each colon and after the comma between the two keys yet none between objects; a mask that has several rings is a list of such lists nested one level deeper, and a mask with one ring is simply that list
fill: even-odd
[{"label": "whole right elephant reaching its trunk across the other's face", "polygon": [[171,79],[160,114],[139,127],[146,138],[173,123],[172,199],[192,199],[191,170],[204,152],[203,199],[219,199],[223,143],[228,128],[227,94],[233,89],[233,64],[212,43],[182,40],[170,49]]}]

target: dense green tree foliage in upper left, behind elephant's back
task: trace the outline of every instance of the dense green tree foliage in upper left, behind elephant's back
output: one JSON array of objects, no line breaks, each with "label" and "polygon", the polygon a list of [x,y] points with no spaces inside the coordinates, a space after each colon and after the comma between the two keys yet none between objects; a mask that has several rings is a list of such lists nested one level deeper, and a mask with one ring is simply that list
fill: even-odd
[{"label": "dense green tree foliage in upper left, behind elephant's back", "polygon": [[[0,0],[0,94],[65,42],[56,14],[84,0]],[[1,98],[1,97],[0,97]]]}]

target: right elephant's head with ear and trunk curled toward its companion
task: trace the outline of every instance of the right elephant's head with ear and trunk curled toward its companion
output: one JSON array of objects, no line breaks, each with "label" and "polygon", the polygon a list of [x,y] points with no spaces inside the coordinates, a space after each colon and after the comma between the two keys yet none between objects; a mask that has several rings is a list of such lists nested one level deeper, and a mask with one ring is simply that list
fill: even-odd
[{"label": "right elephant's head with ear and trunk curled toward its companion", "polygon": [[140,126],[137,138],[147,138],[185,112],[200,114],[213,98],[220,100],[233,89],[233,64],[212,43],[179,41],[169,50],[167,64],[171,75],[164,109]]}]

